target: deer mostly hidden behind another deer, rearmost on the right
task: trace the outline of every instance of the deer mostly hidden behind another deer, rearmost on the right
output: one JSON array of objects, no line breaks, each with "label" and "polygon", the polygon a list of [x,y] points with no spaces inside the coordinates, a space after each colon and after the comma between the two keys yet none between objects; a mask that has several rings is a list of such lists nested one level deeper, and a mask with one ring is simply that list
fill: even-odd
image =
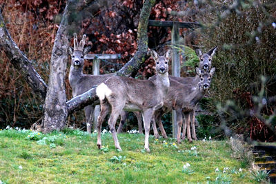
[{"label": "deer mostly hidden behind another deer, rearmost on the right", "polygon": [[[210,67],[212,65],[212,59],[213,56],[215,55],[215,52],[217,50],[217,47],[210,49],[208,52],[202,54],[201,50],[196,50],[197,56],[199,57],[199,69],[204,70],[207,72],[210,70]],[[152,77],[154,79],[155,76]],[[191,85],[191,86],[196,86],[199,83],[199,78],[197,76],[192,76],[192,77],[177,77],[177,76],[171,76],[169,75],[170,81],[175,80],[181,84],[184,85]],[[197,140],[197,135],[195,132],[195,109],[193,112],[190,113],[191,115],[191,120],[192,120],[192,132],[193,132],[193,139]],[[166,135],[166,132],[164,130],[163,124],[161,123],[161,116],[162,114],[157,114],[155,118],[152,118],[152,128],[153,132],[155,135],[155,139],[159,138],[159,134],[157,131],[156,127],[156,121],[159,125],[159,129],[161,131],[162,136],[167,139],[168,136]],[[184,128],[184,127],[183,127]],[[185,139],[185,136],[182,136],[182,139]]]}]

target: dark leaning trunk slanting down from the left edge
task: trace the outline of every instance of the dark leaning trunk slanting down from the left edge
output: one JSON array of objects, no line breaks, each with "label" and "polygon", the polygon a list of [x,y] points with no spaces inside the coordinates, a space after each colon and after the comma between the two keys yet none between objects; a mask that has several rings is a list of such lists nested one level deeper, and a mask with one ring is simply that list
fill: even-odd
[{"label": "dark leaning trunk slanting down from the left edge", "polygon": [[0,48],[3,50],[10,60],[10,63],[17,68],[19,72],[25,77],[26,81],[30,84],[32,90],[45,99],[47,85],[41,79],[41,76],[32,67],[32,62],[19,50],[17,44],[14,43],[12,37],[6,28],[3,17],[0,13]]}]

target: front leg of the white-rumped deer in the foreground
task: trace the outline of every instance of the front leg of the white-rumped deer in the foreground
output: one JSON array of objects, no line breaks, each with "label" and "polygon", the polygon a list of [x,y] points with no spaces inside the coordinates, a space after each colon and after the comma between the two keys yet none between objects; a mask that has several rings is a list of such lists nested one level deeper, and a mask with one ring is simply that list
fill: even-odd
[{"label": "front leg of the white-rumped deer in the foreground", "polygon": [[152,109],[147,109],[142,113],[143,121],[144,121],[144,127],[145,127],[145,150],[147,152],[150,152],[150,147],[148,145],[148,137],[150,136],[150,120],[153,115]]}]

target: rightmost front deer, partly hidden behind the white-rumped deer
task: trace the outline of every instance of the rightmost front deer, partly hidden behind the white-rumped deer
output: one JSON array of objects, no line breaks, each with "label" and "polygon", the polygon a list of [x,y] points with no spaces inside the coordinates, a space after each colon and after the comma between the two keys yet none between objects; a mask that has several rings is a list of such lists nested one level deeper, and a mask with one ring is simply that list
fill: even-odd
[{"label": "rightmost front deer, partly hidden behind the white-rumped deer", "polygon": [[[183,114],[184,114],[184,127],[183,134],[186,134],[187,128],[187,137],[188,141],[192,142],[192,138],[190,136],[190,119],[193,118],[195,112],[195,107],[200,99],[206,94],[210,87],[210,79],[213,77],[215,73],[215,68],[211,68],[210,71],[200,70],[199,68],[195,68],[197,76],[197,85],[190,84],[182,84],[173,79],[170,80],[170,88],[168,90],[166,100],[164,101],[164,107],[155,112],[155,119],[157,122],[161,122],[161,116],[166,112],[171,110],[175,110],[177,114],[177,143],[181,143],[180,135],[181,135],[181,126],[183,124]],[[159,125],[160,127],[160,125]]]}]

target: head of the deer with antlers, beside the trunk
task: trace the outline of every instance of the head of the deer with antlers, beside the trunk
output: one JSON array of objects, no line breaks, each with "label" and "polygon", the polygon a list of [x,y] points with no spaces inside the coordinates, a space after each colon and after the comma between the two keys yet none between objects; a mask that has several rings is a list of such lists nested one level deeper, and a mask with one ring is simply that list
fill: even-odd
[{"label": "head of the deer with antlers, beside the trunk", "polygon": [[86,34],[83,34],[81,41],[78,43],[77,34],[74,33],[74,49],[69,48],[69,54],[71,55],[72,63],[74,68],[82,68],[84,56],[90,51],[90,46],[84,48],[86,44]]}]

